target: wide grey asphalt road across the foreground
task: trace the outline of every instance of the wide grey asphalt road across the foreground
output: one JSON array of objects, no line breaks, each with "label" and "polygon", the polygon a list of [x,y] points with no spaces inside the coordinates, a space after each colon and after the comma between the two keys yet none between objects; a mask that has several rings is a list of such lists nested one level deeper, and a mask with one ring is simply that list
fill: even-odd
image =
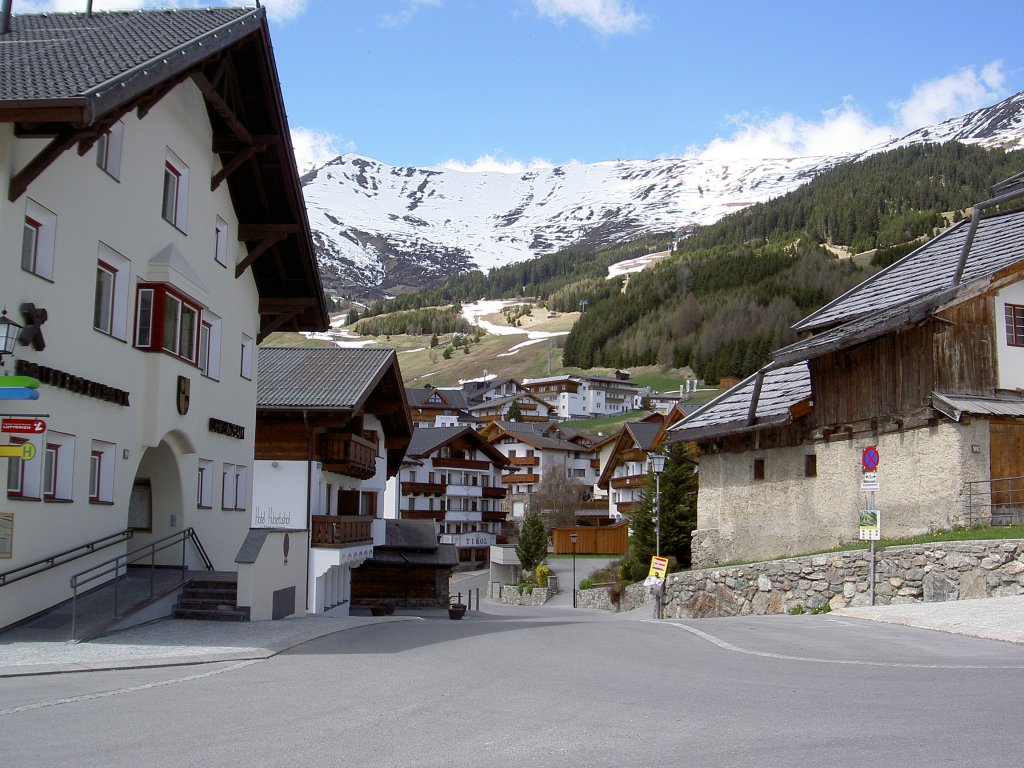
[{"label": "wide grey asphalt road across the foreground", "polygon": [[483,607],[259,662],[3,679],[2,763],[860,768],[1019,755],[1024,646],[828,615]]}]

